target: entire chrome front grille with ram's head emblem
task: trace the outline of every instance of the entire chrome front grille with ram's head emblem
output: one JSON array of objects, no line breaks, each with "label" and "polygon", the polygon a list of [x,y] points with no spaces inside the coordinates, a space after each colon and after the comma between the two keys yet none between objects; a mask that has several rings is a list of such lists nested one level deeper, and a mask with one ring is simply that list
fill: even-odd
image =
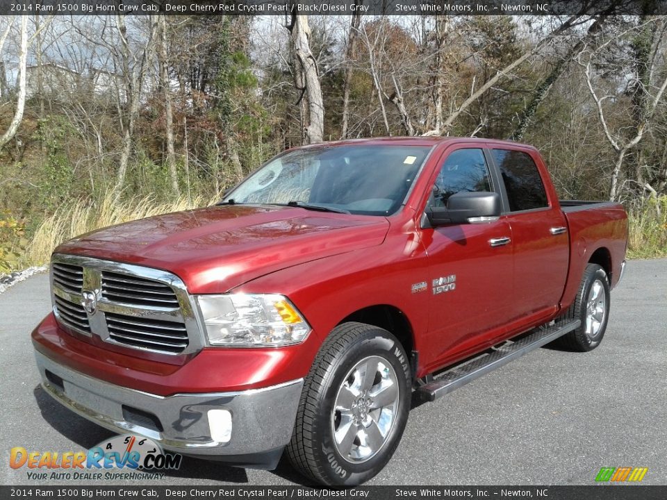
[{"label": "entire chrome front grille with ram's head emblem", "polygon": [[204,346],[195,303],[169,272],[54,254],[51,290],[53,313],[66,331],[168,355]]}]

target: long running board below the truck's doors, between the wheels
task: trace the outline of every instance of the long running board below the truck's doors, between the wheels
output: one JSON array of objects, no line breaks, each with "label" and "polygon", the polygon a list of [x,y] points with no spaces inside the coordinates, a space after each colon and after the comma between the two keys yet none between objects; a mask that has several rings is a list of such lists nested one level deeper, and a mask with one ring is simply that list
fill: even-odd
[{"label": "long running board below the truck's doors, between the wheels", "polygon": [[552,325],[539,326],[516,341],[510,341],[500,347],[493,347],[490,351],[486,351],[466,361],[462,365],[456,365],[447,371],[442,372],[436,378],[417,387],[417,391],[425,401],[435,401],[439,397],[452,392],[455,389],[472,382],[491,370],[507,365],[510,361],[520,358],[525,353],[534,351],[549,342],[565,335],[566,333],[579,328],[582,322],[579,319],[570,321],[555,322]]}]

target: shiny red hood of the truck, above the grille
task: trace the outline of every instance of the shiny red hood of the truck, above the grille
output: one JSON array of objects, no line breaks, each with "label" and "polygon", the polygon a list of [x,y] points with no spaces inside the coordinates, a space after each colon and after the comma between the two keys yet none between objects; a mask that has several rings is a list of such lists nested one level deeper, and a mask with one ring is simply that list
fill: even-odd
[{"label": "shiny red hood of the truck, above the grille", "polygon": [[191,293],[223,293],[286,267],[379,245],[388,228],[384,217],[213,206],[99,229],[56,253],[164,269]]}]

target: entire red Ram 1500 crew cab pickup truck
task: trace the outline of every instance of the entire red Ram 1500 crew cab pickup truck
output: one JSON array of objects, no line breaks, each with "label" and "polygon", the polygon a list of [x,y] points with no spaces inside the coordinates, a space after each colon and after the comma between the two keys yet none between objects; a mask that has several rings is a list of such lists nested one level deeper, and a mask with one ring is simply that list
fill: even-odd
[{"label": "entire red Ram 1500 crew cab pickup truck", "polygon": [[600,344],[618,203],[560,202],[533,147],[387,138],[286,151],[216,206],[60,245],[42,387],[170,451],[356,485],[411,396],[550,342]]}]

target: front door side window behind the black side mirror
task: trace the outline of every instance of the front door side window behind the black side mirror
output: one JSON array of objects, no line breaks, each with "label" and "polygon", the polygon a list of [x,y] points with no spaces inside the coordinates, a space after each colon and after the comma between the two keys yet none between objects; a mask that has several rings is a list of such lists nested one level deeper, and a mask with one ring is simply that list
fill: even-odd
[{"label": "front door side window behind the black side mirror", "polygon": [[456,149],[440,168],[428,206],[445,206],[461,191],[491,191],[488,168],[481,149]]}]

